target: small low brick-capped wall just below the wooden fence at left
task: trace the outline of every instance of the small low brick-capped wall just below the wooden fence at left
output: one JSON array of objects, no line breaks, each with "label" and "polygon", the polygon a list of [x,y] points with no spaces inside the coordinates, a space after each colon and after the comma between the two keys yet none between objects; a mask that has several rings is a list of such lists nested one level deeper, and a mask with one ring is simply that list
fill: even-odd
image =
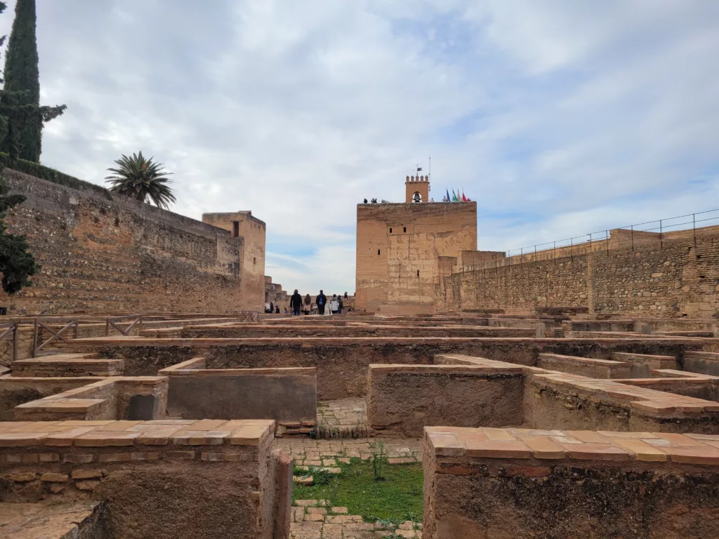
[{"label": "small low brick-capped wall just below the wooden fence at left", "polygon": [[11,364],[12,377],[122,376],[123,359],[100,359],[98,354],[54,354],[18,359]]}]

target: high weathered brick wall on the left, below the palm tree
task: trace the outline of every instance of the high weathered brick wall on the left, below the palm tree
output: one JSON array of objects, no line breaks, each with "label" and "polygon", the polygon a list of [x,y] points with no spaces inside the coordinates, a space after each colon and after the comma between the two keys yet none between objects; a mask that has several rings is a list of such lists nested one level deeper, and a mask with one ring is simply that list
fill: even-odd
[{"label": "high weathered brick wall on the left, below the palm tree", "polygon": [[5,169],[27,201],[6,218],[42,270],[0,305],[9,314],[232,312],[241,293],[242,238],[209,224],[95,190]]}]

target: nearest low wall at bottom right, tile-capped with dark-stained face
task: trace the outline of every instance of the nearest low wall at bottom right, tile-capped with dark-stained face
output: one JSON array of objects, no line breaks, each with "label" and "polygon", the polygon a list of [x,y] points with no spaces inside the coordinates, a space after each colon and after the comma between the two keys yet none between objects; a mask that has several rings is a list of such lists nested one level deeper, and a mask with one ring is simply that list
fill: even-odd
[{"label": "nearest low wall at bottom right, tile-capped with dark-stained face", "polygon": [[714,537],[719,437],[637,434],[428,428],[422,537]]}]

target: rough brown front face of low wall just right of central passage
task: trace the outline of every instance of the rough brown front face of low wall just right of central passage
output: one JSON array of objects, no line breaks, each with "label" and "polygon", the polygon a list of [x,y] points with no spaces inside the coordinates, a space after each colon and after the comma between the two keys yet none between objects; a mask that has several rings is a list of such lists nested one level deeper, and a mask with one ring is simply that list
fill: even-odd
[{"label": "rough brown front face of low wall just right of central passage", "polygon": [[521,367],[486,372],[464,365],[370,365],[367,426],[419,437],[426,425],[521,425]]}]

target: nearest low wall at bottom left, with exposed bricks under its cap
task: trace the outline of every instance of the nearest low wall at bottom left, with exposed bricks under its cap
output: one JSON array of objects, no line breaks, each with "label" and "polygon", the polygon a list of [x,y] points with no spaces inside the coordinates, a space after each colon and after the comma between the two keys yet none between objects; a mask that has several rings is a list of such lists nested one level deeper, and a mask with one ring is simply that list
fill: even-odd
[{"label": "nearest low wall at bottom left, with exposed bricks under its cap", "polygon": [[104,500],[116,539],[288,537],[272,421],[0,423],[0,440],[0,502]]}]

